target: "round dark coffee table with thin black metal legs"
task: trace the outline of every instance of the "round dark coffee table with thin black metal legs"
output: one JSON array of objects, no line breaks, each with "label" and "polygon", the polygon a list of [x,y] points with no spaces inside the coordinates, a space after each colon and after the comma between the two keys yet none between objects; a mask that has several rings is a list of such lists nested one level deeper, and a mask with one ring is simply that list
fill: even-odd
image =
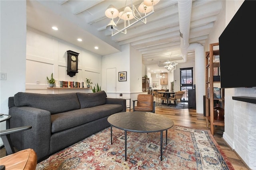
[{"label": "round dark coffee table with thin black metal legs", "polygon": [[112,145],[112,127],[124,130],[124,145],[125,145],[125,160],[127,150],[127,131],[138,133],[160,132],[160,152],[162,161],[163,152],[163,131],[166,131],[167,145],[167,130],[170,129],[174,122],[164,115],[143,111],[128,111],[110,115],[108,117],[111,129],[111,145]]}]

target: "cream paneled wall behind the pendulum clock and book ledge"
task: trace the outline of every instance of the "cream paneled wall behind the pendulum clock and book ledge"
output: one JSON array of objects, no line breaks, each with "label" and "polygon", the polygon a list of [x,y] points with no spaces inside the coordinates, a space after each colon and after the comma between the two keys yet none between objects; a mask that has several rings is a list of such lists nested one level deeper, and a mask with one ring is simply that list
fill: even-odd
[{"label": "cream paneled wall behind the pendulum clock and book ledge", "polygon": [[[26,92],[33,93],[67,93],[92,92],[90,89],[47,89],[49,83],[46,76],[58,81],[85,82],[90,78],[94,84],[101,85],[101,56],[90,51],[76,47],[66,41],[42,33],[36,29],[27,28],[26,46]],[[79,53],[78,73],[70,77],[67,75],[68,50]],[[37,84],[38,82],[38,84]],[[84,86],[86,84],[84,83]],[[102,89],[104,90],[104,89]]]}]

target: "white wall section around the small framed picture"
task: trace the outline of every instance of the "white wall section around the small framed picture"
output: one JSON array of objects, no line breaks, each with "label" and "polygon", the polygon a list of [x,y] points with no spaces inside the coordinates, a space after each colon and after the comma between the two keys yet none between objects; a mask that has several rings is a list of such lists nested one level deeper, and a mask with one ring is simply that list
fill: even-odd
[{"label": "white wall section around the small framed picture", "polygon": [[[120,53],[105,55],[102,57],[102,87],[106,88],[107,80],[104,76],[109,68],[116,68],[116,92],[107,92],[109,97],[132,98],[135,100],[137,94],[142,92],[142,55],[130,44],[122,45]],[[127,72],[127,81],[118,81],[118,72]]]}]

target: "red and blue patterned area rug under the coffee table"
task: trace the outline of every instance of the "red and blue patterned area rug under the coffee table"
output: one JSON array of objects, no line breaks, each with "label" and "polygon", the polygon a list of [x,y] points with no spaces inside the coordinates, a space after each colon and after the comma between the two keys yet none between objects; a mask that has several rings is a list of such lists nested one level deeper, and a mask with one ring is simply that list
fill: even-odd
[{"label": "red and blue patterned area rug under the coffee table", "polygon": [[163,133],[127,132],[127,160],[124,161],[124,131],[110,127],[37,164],[36,170],[234,170],[210,131],[176,126]]}]

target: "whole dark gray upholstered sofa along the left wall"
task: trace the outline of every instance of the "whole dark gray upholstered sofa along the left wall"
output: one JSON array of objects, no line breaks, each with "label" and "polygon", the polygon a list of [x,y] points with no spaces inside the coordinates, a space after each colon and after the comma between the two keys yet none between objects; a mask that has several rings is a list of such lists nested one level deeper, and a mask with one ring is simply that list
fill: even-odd
[{"label": "whole dark gray upholstered sofa along the left wall", "polygon": [[126,111],[126,100],[106,92],[36,94],[18,92],[8,101],[10,128],[32,126],[11,135],[18,150],[36,151],[38,162],[106,127],[108,116]]}]

